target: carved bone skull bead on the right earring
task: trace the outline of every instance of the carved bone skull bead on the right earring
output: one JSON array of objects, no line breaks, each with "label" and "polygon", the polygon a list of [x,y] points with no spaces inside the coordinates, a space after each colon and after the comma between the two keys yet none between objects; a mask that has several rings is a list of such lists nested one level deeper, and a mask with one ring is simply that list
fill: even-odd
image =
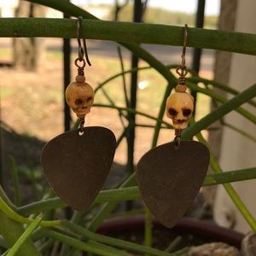
[{"label": "carved bone skull bead on the right earring", "polygon": [[166,115],[175,129],[185,129],[194,110],[194,98],[186,92],[175,92],[167,98]]}]

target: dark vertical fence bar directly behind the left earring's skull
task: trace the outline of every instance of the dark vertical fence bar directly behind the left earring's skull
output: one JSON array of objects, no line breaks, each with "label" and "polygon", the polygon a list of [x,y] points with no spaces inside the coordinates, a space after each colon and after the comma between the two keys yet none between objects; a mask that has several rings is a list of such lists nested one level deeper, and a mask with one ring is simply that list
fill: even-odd
[{"label": "dark vertical fence bar directly behind the left earring's skull", "polygon": [[[70,18],[69,15],[64,14],[64,18]],[[64,92],[64,98],[63,98],[63,105],[64,105],[64,131],[70,130],[70,108],[67,105],[67,102],[65,100],[65,90],[67,88],[67,85],[70,84],[70,53],[71,53],[71,47],[70,47],[70,39],[69,38],[63,38],[63,92]]]}]

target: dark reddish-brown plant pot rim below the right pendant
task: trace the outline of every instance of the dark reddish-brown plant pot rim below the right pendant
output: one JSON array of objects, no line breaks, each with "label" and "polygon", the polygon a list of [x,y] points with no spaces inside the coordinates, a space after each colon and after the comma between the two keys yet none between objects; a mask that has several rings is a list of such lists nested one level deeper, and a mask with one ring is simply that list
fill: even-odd
[{"label": "dark reddish-brown plant pot rim below the right pendant", "polygon": [[[134,217],[108,219],[101,225],[97,232],[106,234],[108,236],[123,236],[121,237],[123,239],[123,234],[125,233],[130,233],[131,235],[133,233],[140,232],[142,233],[142,238],[138,240],[143,241],[143,230],[144,217],[143,215],[137,215]],[[195,218],[182,218],[172,229],[167,229],[162,224],[160,224],[159,221],[154,219],[153,230],[158,230],[158,232],[164,232],[164,236],[169,236],[169,233],[174,234],[171,239],[174,239],[176,236],[193,236],[194,238],[196,238],[195,244],[185,244],[183,246],[200,245],[202,243],[212,241],[222,241],[229,244],[230,246],[240,249],[241,241],[244,238],[244,235],[239,232],[225,229],[218,226],[217,224],[213,224],[210,221],[199,220]],[[159,233],[157,236],[159,236]],[[125,238],[127,239],[127,237]],[[158,238],[161,239],[161,237]],[[170,240],[167,239],[167,242],[170,242]]]}]

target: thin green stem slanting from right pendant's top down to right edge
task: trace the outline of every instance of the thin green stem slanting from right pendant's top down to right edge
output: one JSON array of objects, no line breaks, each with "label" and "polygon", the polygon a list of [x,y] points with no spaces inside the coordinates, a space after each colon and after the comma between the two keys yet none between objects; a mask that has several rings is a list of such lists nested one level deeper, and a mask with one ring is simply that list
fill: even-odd
[{"label": "thin green stem slanting from right pendant's top down to right edge", "polygon": [[[201,133],[198,133],[196,135],[198,140],[201,143],[204,143],[207,147],[207,141],[202,137]],[[211,151],[210,151],[210,166],[212,167],[212,170],[216,173],[222,173],[222,169],[218,165],[217,160],[214,159]],[[247,221],[247,224],[249,224],[253,230],[253,232],[256,232],[256,220],[253,218],[253,215],[251,212],[248,211],[247,207],[244,205],[244,203],[241,201],[241,198],[239,195],[236,193],[236,190],[231,186],[230,183],[224,183],[224,189],[226,189],[228,195],[230,195],[230,199],[234,202],[236,205],[237,209],[241,212],[241,215],[245,218]]]}]

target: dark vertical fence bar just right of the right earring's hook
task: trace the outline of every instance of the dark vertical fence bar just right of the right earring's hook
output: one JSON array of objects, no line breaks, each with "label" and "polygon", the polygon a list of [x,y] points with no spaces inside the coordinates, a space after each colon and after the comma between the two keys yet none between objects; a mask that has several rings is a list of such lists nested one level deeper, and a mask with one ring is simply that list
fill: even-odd
[{"label": "dark vertical fence bar just right of the right earring's hook", "polygon": [[[205,5],[206,5],[206,0],[198,0],[197,1],[195,27],[203,27],[204,26]],[[195,71],[195,73],[199,73],[200,61],[201,61],[201,49],[195,48],[193,50],[193,61],[192,61],[192,70]],[[195,91],[192,91],[192,96],[194,96],[195,103],[196,103],[196,92]],[[194,111],[194,114],[195,114],[195,111]]]}]

